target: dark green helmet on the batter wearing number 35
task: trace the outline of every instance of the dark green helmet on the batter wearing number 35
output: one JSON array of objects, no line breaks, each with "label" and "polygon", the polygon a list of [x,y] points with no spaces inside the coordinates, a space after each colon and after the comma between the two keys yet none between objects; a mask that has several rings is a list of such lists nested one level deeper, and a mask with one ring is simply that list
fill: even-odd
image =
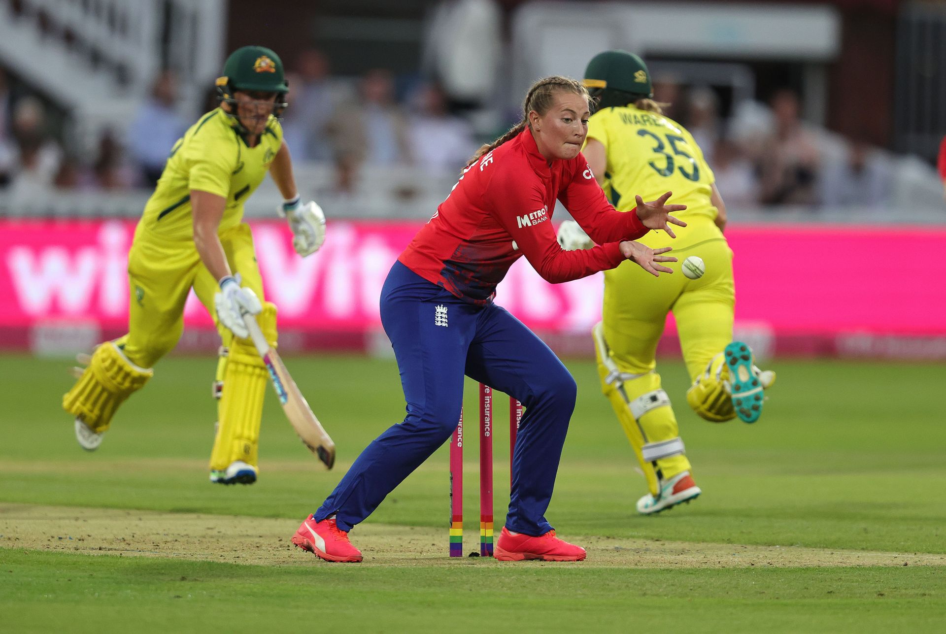
[{"label": "dark green helmet on the batter wearing number 35", "polygon": [[647,64],[627,51],[595,55],[585,69],[584,83],[598,108],[626,106],[642,97],[654,97]]}]

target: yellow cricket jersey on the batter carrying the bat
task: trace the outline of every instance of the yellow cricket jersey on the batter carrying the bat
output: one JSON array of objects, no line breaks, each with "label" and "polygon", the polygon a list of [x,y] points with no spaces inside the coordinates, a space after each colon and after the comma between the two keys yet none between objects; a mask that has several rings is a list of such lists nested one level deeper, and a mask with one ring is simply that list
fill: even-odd
[{"label": "yellow cricket jersey on the batter carrying the bat", "polygon": [[219,233],[235,227],[243,219],[243,203],[262,183],[282,144],[282,126],[272,115],[259,143],[250,148],[228,114],[219,108],[204,114],[171,149],[138,231],[168,241],[192,240],[191,189],[225,198]]}]

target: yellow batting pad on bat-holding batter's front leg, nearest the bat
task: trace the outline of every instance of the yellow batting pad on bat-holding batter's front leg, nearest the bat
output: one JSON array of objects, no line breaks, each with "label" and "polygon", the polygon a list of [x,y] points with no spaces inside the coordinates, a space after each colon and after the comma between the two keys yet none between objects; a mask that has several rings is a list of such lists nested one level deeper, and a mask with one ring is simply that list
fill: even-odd
[{"label": "yellow batting pad on bat-holding batter's front leg, nearest the bat", "polygon": [[[256,317],[266,340],[276,345],[276,307],[263,304]],[[223,470],[236,460],[258,464],[259,427],[266,395],[266,366],[249,339],[236,339],[230,347],[223,371],[218,404],[219,426],[210,455],[210,468]]]}]

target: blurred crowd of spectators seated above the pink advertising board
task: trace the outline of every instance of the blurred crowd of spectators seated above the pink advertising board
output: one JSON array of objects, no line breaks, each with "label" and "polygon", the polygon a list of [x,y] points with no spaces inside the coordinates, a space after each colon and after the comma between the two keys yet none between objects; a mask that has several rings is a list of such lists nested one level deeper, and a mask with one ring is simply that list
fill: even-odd
[{"label": "blurred crowd of spectators seated above the pink advertising board", "polygon": [[[397,78],[381,68],[356,80],[335,77],[317,50],[289,63],[288,79],[283,128],[293,160],[333,166],[338,193],[354,192],[362,167],[455,174],[483,141],[504,130],[475,131],[469,111],[458,109],[435,83]],[[767,104],[734,104],[727,116],[709,87],[657,77],[655,98],[692,132],[732,207],[889,203],[892,173],[882,152],[863,139],[826,144],[833,135],[802,121],[791,90],[776,92]],[[177,103],[177,80],[162,73],[127,129],[104,134],[94,156],[80,156],[53,133],[41,100],[11,95],[0,69],[0,190],[153,186],[167,152],[196,120],[184,117]],[[215,106],[208,97],[206,108]]]}]

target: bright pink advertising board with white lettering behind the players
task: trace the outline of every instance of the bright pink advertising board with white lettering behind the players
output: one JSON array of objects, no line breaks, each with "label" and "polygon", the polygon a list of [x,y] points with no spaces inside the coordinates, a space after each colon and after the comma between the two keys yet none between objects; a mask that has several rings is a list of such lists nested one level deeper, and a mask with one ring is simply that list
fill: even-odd
[{"label": "bright pink advertising board with white lettering behind the players", "polygon": [[[302,259],[283,223],[252,224],[290,348],[363,348],[377,336],[385,274],[420,226],[331,221],[323,249]],[[35,347],[37,333],[55,346],[49,333],[77,328],[93,339],[120,334],[133,230],[118,220],[0,220],[0,346]],[[946,357],[946,283],[936,261],[946,253],[946,228],[733,225],[727,238],[736,254],[737,330],[770,351]],[[497,301],[553,345],[571,338],[585,342],[576,348],[584,352],[601,295],[600,274],[551,285],[521,259]],[[185,345],[195,344],[195,333],[204,333],[198,347],[211,344],[210,318],[193,296],[185,323]]]}]

